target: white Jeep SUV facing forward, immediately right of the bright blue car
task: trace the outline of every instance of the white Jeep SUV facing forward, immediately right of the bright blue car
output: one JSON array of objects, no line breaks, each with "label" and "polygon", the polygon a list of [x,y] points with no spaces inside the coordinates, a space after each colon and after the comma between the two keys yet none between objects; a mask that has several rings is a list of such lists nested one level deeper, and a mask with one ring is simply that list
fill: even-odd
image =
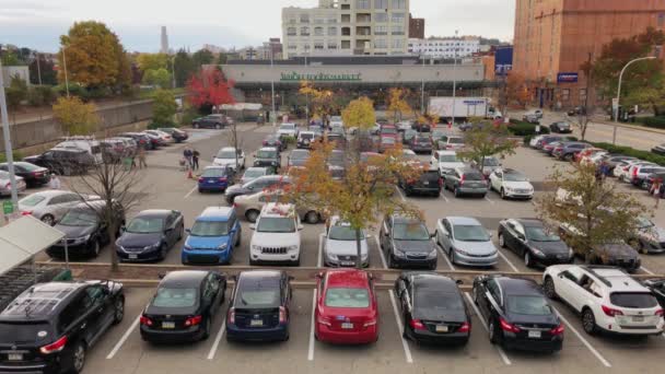
[{"label": "white Jeep SUV facing forward, immediately right of the bright blue car", "polygon": [[293,204],[265,204],[256,223],[249,225],[249,229],[254,230],[249,246],[249,265],[300,265],[300,232],[303,226]]}]

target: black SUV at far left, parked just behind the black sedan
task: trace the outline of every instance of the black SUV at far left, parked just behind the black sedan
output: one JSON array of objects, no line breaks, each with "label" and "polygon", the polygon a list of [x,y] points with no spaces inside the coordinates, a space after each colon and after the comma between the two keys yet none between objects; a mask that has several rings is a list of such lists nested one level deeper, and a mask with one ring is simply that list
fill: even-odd
[{"label": "black SUV at far left, parked just behind the black sedan", "polygon": [[78,149],[52,149],[23,161],[46,167],[59,175],[85,174],[95,163],[90,153]]}]

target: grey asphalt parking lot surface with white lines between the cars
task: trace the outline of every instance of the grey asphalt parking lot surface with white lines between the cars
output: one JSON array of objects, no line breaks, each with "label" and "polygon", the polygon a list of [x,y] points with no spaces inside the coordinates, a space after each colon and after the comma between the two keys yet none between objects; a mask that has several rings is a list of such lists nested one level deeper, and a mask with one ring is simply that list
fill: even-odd
[{"label": "grey asphalt parking lot surface with white lines between the cars", "polygon": [[[247,154],[247,165],[252,163],[252,153],[260,147],[266,135],[273,131],[269,125],[238,126],[242,147]],[[215,194],[199,194],[196,180],[188,179],[178,170],[177,163],[185,147],[194,148],[201,153],[201,167],[210,164],[217,151],[229,144],[229,130],[191,130],[190,140],[149,154],[149,168],[142,173],[143,188],[140,191],[139,207],[128,213],[143,209],[176,209],[185,215],[186,227],[209,206],[225,206],[223,196]],[[287,151],[288,152],[288,151]],[[282,162],[285,163],[283,153]],[[421,156],[428,160],[427,155]],[[565,163],[547,159],[542,154],[520,148],[515,155],[503,161],[506,167],[513,167],[529,176],[536,188],[536,196],[545,190],[545,179],[551,167]],[[75,183],[75,177],[72,178]],[[63,183],[63,188],[67,182]],[[649,207],[653,200],[646,194],[622,186],[626,190],[639,194]],[[30,191],[28,191],[30,192]],[[401,191],[397,198],[407,199]],[[490,192],[486,198],[456,199],[452,192],[443,191],[439,198],[408,198],[423,212],[431,231],[436,220],[446,215],[470,215],[493,232],[493,242],[498,247],[495,230],[500,220],[505,218],[537,217],[532,201],[501,200],[498,194]],[[655,212],[654,222],[665,226],[665,213]],[[233,254],[232,265],[248,265],[249,239],[252,231],[247,222],[243,222],[242,246]],[[315,267],[322,262],[323,224],[305,225],[302,234],[301,266]],[[377,244],[374,227],[370,230],[370,267],[385,268]],[[168,253],[165,264],[180,264],[179,252],[183,242]],[[110,247],[102,250],[93,261],[108,262]],[[43,260],[48,260],[45,256]],[[663,273],[665,258],[661,256],[642,256],[642,273]],[[440,270],[466,270],[453,267],[447,259],[439,254]],[[526,268],[524,260],[513,253],[500,249],[499,264],[493,269],[501,272],[534,271]],[[469,284],[470,285],[470,284]],[[483,323],[479,320],[470,299],[467,300],[474,314],[471,339],[465,348],[441,348],[416,346],[401,338],[401,322],[395,296],[387,291],[378,295],[381,320],[381,337],[377,343],[368,347],[334,347],[316,342],[313,339],[313,290],[299,289],[294,293],[291,305],[291,339],[283,343],[270,344],[229,344],[223,337],[223,316],[214,320],[214,334],[209,340],[189,346],[154,347],[141,341],[138,331],[138,316],[148,303],[151,289],[127,290],[126,318],[117,327],[105,335],[95,347],[86,363],[88,373],[176,373],[176,372],[210,372],[223,367],[225,371],[259,370],[266,373],[294,372],[305,373],[316,370],[319,373],[339,372],[340,370],[365,372],[382,371],[386,373],[429,373],[441,371],[442,367],[452,372],[534,372],[553,373],[556,371],[588,371],[588,372],[656,372],[665,349],[665,338],[650,337],[649,339],[626,339],[615,337],[590,337],[583,332],[580,318],[570,313],[565,306],[555,303],[565,324],[565,340],[563,350],[553,355],[532,354],[522,352],[505,352],[492,346],[487,336]],[[228,291],[228,295],[230,290]],[[225,311],[225,307],[222,308]]]}]

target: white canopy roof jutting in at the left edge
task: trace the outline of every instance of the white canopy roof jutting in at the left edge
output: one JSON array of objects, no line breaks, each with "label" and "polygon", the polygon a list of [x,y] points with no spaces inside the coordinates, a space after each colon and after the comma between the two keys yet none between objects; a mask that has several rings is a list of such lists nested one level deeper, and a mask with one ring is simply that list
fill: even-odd
[{"label": "white canopy roof jutting in at the left edge", "polygon": [[27,261],[65,237],[48,224],[23,215],[0,227],[0,274]]}]

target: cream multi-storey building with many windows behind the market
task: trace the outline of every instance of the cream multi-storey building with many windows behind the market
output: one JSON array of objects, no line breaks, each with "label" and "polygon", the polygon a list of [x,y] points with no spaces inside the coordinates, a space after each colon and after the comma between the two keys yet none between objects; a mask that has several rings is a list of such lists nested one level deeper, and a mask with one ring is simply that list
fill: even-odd
[{"label": "cream multi-storey building with many windows behind the market", "polygon": [[283,8],[284,57],[405,55],[410,0],[319,0]]}]

